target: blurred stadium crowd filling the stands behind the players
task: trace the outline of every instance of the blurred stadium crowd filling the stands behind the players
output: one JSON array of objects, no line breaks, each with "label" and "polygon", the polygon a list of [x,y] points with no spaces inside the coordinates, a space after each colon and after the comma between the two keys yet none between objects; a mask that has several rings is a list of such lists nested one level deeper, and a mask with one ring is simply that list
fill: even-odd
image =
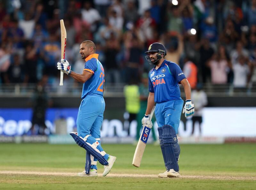
[{"label": "blurred stadium crowd filling the stands behind the players", "polygon": [[0,84],[59,84],[60,19],[72,70],[83,71],[79,45],[92,40],[106,83],[139,82],[152,67],[144,52],[154,42],[165,45],[165,59],[180,65],[192,88],[256,81],[256,0],[6,0]]}]

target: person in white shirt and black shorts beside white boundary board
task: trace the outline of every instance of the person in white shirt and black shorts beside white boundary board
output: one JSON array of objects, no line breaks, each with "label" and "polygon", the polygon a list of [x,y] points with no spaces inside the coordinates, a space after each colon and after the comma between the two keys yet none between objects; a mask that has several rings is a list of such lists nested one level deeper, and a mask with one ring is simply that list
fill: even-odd
[{"label": "person in white shirt and black shorts beside white boundary board", "polygon": [[203,108],[207,105],[208,101],[207,101],[207,95],[206,93],[202,90],[202,84],[198,83],[196,85],[196,90],[193,90],[191,92],[191,99],[193,100],[194,105],[195,105],[195,113],[192,117],[192,132],[191,135],[194,134],[195,131],[195,124],[196,122],[198,122],[199,125],[199,133],[200,135],[202,134],[202,129],[201,129],[201,123],[203,121],[203,117],[202,117],[202,110]]}]

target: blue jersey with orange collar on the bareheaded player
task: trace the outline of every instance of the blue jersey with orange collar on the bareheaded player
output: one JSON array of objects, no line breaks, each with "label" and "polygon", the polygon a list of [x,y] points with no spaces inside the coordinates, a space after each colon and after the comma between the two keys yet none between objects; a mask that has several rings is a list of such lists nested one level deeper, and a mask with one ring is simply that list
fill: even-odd
[{"label": "blue jersey with orange collar on the bareheaded player", "polygon": [[83,84],[82,99],[87,95],[103,96],[105,74],[98,57],[99,54],[94,53],[85,59],[84,71],[92,73],[92,76]]}]

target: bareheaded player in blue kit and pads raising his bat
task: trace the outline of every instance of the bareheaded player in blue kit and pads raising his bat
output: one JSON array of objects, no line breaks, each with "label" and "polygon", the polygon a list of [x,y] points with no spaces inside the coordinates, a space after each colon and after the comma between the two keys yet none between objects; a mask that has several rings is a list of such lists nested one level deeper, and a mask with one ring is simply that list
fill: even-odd
[{"label": "bareheaded player in blue kit and pads raising his bat", "polygon": [[70,135],[76,144],[86,150],[85,170],[78,173],[78,176],[98,176],[97,160],[104,165],[103,176],[106,176],[116,161],[115,156],[106,154],[100,144],[100,128],[103,122],[105,110],[104,91],[104,68],[98,60],[99,54],[95,53],[96,46],[90,41],[80,44],[82,59],[86,63],[82,74],[71,71],[71,66],[66,59],[57,63],[59,70],[74,78],[77,82],[83,83],[82,102],[77,115],[77,132]]}]

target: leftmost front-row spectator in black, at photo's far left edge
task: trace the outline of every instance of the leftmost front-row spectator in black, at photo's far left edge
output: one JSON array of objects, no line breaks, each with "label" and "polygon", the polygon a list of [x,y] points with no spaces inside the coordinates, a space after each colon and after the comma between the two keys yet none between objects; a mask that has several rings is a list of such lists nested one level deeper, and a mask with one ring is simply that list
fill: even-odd
[{"label": "leftmost front-row spectator in black, at photo's far left edge", "polygon": [[24,73],[24,67],[20,63],[19,54],[14,54],[13,62],[4,77],[5,83],[23,83]]}]

